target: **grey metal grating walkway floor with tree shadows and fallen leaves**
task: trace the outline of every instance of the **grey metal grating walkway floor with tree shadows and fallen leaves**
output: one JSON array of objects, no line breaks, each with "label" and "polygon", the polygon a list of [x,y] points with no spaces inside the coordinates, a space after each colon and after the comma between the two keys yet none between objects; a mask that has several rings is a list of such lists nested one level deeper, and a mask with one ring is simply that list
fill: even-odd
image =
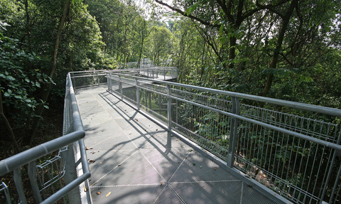
[{"label": "grey metal grating walkway floor with tree shadows and fallen leaves", "polygon": [[97,203],[275,203],[109,94],[77,90]]}]

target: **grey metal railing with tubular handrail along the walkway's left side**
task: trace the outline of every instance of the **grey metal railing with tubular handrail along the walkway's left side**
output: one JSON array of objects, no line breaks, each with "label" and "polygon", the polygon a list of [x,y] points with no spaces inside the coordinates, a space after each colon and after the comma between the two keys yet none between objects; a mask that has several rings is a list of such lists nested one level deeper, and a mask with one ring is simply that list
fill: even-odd
[{"label": "grey metal railing with tubular handrail along the walkway's left side", "polygon": [[[85,195],[86,198],[81,198],[81,192],[88,192],[87,178],[90,177],[82,140],[84,136],[69,73],[65,90],[63,136],[0,161],[0,176],[13,172],[18,194],[18,202],[13,200],[14,203],[28,203],[28,192],[32,192],[36,203],[81,203],[82,199],[91,203],[89,193]],[[58,151],[57,156],[53,156],[55,151]],[[23,185],[27,177],[31,185]],[[9,188],[5,183],[1,183],[0,187],[0,192],[6,195],[7,203],[12,203]]]}]

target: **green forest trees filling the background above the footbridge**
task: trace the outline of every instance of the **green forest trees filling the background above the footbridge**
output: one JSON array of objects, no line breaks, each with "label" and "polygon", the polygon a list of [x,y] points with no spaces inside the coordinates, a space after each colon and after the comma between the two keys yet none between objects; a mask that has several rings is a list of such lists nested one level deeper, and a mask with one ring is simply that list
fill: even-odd
[{"label": "green forest trees filling the background above the footbridge", "polygon": [[178,82],[340,109],[340,20],[337,0],[0,0],[1,127],[31,144],[67,72],[144,58]]}]

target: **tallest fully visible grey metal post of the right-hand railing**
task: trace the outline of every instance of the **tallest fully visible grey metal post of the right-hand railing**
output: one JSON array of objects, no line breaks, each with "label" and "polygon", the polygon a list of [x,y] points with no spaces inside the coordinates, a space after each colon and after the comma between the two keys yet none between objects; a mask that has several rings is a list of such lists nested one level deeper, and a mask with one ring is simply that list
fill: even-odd
[{"label": "tallest fully visible grey metal post of the right-hand railing", "polygon": [[[232,100],[232,114],[239,114],[239,99],[237,97],[231,97]],[[227,166],[233,167],[234,154],[236,152],[237,143],[237,130],[238,130],[238,119],[232,117],[231,119],[231,131],[229,132],[229,156],[227,159]]]}]

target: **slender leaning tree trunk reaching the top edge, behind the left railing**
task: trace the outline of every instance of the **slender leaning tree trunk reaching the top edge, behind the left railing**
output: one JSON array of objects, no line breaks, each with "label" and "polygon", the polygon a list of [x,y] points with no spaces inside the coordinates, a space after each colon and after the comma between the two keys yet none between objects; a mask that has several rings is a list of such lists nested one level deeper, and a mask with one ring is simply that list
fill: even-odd
[{"label": "slender leaning tree trunk reaching the top edge, behind the left railing", "polygon": [[[55,41],[55,51],[53,53],[53,68],[50,71],[50,75],[49,75],[51,80],[53,79],[53,74],[55,73],[55,69],[57,68],[58,45],[59,45],[60,36],[62,34],[62,30],[63,30],[65,20],[66,20],[67,15],[69,14],[69,11],[70,11],[70,5],[71,5],[71,0],[68,0],[66,5],[65,5],[65,9],[63,12],[63,16],[60,20],[60,24],[58,26],[58,33],[57,33],[57,37],[56,37],[56,41]],[[43,87],[43,93],[41,96],[41,100],[43,100],[43,102],[46,102],[46,100],[48,100],[48,95],[50,94],[50,90],[51,90],[51,82],[48,82]],[[38,107],[36,109],[36,115],[41,116],[41,114],[43,113],[43,109],[44,109],[43,104],[38,105]],[[33,121],[30,146],[32,144],[34,136],[36,136],[36,134],[38,132],[39,122],[40,122],[40,117],[35,117],[34,121]]]}]

